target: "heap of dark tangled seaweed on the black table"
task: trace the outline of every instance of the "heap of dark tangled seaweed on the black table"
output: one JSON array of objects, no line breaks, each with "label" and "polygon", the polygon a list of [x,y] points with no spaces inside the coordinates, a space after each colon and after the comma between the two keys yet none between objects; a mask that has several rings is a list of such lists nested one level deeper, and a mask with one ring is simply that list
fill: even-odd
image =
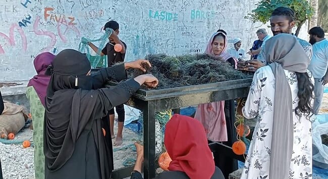
[{"label": "heap of dark tangled seaweed on the black table", "polygon": [[230,63],[206,54],[177,57],[156,54],[148,55],[145,59],[150,62],[151,68],[144,64],[146,72],[138,69],[129,70],[128,76],[135,77],[151,73],[159,80],[157,88],[206,84],[249,77],[235,70]]}]

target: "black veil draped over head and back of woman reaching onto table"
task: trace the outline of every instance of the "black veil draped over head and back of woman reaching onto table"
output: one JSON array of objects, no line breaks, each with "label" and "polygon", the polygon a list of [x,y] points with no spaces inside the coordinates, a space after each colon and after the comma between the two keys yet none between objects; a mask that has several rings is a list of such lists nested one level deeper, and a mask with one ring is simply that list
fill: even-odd
[{"label": "black veil draped over head and back of woman reaching onto table", "polygon": [[50,171],[65,165],[81,133],[92,127],[93,121],[90,119],[94,115],[97,96],[88,98],[87,103],[81,100],[86,95],[81,88],[92,88],[92,80],[86,76],[90,68],[87,57],[72,49],[60,52],[49,67],[51,78],[45,108],[44,155]]}]

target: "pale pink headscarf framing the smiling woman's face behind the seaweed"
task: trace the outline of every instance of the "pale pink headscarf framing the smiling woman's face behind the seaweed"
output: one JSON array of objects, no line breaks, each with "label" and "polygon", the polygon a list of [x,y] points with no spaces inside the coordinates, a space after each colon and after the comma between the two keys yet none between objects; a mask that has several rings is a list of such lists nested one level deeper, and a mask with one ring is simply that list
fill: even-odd
[{"label": "pale pink headscarf framing the smiling woman's face behind the seaweed", "polygon": [[[220,55],[214,55],[214,53],[212,51],[212,43],[213,43],[214,37],[216,35],[220,34],[220,33],[225,37],[225,47],[222,50],[222,52],[221,52]],[[211,38],[208,41],[208,44],[207,44],[205,53],[208,54],[208,55],[212,55],[214,57],[221,57],[221,58],[223,58],[224,61],[227,61],[228,59],[233,58],[235,60],[235,69],[237,69],[237,62],[238,62],[238,60],[234,56],[232,56],[231,54],[229,54],[228,52],[226,52],[227,46],[228,46],[228,40],[227,40],[226,34],[223,33],[223,32],[215,32],[215,33],[213,33],[213,35],[211,36]]]}]

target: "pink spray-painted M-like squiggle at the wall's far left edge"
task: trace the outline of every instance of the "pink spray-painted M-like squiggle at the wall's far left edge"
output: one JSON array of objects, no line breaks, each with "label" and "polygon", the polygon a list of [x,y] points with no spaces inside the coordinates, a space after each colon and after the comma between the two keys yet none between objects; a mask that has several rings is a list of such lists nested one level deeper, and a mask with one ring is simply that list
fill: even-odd
[{"label": "pink spray-painted M-like squiggle at the wall's far left edge", "polygon": [[[14,35],[14,30],[15,29],[17,29],[19,35],[21,36],[21,39],[22,39],[22,47],[23,47],[24,52],[26,52],[26,49],[27,49],[26,35],[25,35],[23,29],[20,26],[18,26],[16,23],[15,24],[12,24],[10,26],[10,29],[9,29],[9,37],[6,34],[2,33],[2,32],[0,32],[0,36],[4,37],[9,42],[9,44],[13,47],[13,46],[16,45],[15,35]],[[0,44],[0,54],[5,54],[5,51],[3,49],[3,46],[1,46],[1,44]]]}]

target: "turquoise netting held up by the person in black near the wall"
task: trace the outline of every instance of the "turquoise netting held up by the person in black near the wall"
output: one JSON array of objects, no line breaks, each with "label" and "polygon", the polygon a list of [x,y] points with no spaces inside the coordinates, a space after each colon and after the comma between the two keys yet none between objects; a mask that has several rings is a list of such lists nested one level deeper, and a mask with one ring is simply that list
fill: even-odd
[{"label": "turquoise netting held up by the person in black near the wall", "polygon": [[[94,59],[93,63],[91,64],[91,67],[92,68],[96,68],[99,61],[100,61],[100,54],[101,54],[101,47],[104,47],[105,45],[105,42],[107,41],[108,37],[111,36],[113,33],[113,29],[111,28],[106,28],[105,29],[105,34],[103,34],[100,38],[98,39],[94,39],[94,40],[91,40],[89,38],[86,38],[86,37],[82,37],[81,38],[81,42],[79,43],[79,51],[81,53],[85,52],[86,51],[86,54],[87,54],[87,57],[88,59],[90,59],[91,55],[90,55],[90,50],[88,48],[88,42],[95,42],[95,41],[100,41],[100,44],[99,44],[99,48],[98,48],[98,51],[96,52],[97,53],[97,56],[96,58]],[[112,44],[112,43],[111,43]],[[113,45],[113,44],[112,44]],[[113,45],[114,46],[114,45]]]}]

